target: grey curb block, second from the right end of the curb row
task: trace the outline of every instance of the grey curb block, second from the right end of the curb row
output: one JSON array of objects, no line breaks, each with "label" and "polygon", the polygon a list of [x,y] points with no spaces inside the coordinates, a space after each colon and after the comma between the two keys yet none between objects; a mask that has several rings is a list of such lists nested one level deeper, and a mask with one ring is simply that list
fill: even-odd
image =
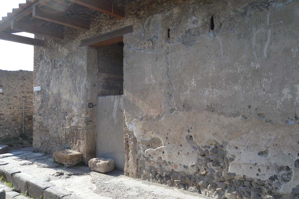
[{"label": "grey curb block, second from the right end of the curb row", "polygon": [[31,179],[27,181],[28,194],[31,198],[40,199],[44,196],[45,189],[54,186],[54,184],[41,179]]}]

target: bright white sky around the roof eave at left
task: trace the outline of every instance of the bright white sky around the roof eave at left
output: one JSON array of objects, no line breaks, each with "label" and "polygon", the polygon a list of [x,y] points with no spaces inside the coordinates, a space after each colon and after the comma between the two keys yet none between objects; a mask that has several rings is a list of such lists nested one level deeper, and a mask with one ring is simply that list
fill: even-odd
[{"label": "bright white sky around the roof eave at left", "polygon": [[[18,8],[19,3],[26,0],[0,1],[0,18],[7,16],[13,8]],[[17,33],[26,37],[34,37],[30,33]],[[33,45],[0,40],[0,69],[2,70],[29,70],[33,71]]]}]

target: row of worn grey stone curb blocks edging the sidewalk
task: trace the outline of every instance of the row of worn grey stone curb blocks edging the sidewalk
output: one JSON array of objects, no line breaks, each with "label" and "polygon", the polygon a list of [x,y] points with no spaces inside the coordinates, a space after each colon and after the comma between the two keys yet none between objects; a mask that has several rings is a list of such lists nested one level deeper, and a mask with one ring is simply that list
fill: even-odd
[{"label": "row of worn grey stone curb blocks edging the sidewalk", "polygon": [[[54,184],[42,179],[37,179],[31,174],[21,173],[21,171],[9,165],[0,165],[0,175],[3,175],[5,180],[8,182],[12,182],[18,192],[25,193],[28,191],[29,196],[32,198],[40,199],[40,196],[42,195],[44,196],[44,199],[84,199],[79,196],[72,195],[62,187],[55,186]],[[5,190],[6,192],[12,191],[10,187],[2,187],[0,188],[0,191],[1,190]],[[26,197],[16,194],[11,198],[25,199]]]}]

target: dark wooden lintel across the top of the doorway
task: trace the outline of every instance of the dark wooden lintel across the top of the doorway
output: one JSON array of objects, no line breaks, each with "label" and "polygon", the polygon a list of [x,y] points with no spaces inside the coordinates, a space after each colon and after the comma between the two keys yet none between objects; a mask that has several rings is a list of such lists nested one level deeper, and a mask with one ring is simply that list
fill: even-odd
[{"label": "dark wooden lintel across the top of the doorway", "polygon": [[[130,26],[126,26],[124,28],[120,28],[118,30],[115,30],[115,31],[112,31],[112,32],[109,32],[109,33],[106,33],[106,34],[102,34],[102,35],[99,35],[99,36],[96,36],[96,37],[91,37],[89,39],[86,39],[86,40],[82,40],[81,41],[81,46],[92,46],[92,45],[101,45],[99,44],[100,42],[104,43],[104,42],[107,42],[108,40],[110,40],[112,43],[109,43],[108,45],[110,44],[113,44],[113,43],[118,43],[120,42],[119,39],[120,37],[122,37],[123,35],[125,34],[128,34],[128,33],[132,33],[133,32],[133,26],[130,25]],[[118,38],[118,39],[115,39],[115,38]],[[113,39],[115,40],[113,42]]]}]

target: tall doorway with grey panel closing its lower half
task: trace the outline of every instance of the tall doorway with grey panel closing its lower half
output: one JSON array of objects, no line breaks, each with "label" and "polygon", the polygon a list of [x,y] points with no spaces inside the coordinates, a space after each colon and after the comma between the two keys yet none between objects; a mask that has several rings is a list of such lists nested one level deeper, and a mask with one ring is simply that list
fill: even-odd
[{"label": "tall doorway with grey panel closing its lower half", "polygon": [[123,170],[123,43],[98,47],[97,53],[96,157],[114,159],[115,168]]}]

